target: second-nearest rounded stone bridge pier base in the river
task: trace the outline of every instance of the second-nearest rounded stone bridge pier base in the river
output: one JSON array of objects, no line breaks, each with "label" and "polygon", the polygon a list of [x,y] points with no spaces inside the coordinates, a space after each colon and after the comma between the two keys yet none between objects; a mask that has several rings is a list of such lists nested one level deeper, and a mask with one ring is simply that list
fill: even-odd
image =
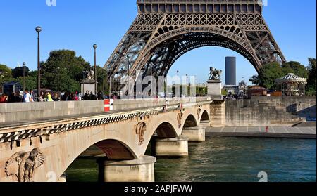
[{"label": "second-nearest rounded stone bridge pier base in the river", "polygon": [[188,139],[185,136],[156,139],[154,154],[156,157],[188,157]]}]

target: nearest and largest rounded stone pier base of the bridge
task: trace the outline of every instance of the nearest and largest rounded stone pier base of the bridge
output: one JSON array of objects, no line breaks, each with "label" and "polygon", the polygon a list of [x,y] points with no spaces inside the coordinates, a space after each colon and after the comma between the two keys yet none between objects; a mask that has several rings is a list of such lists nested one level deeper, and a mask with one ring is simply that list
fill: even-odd
[{"label": "nearest and largest rounded stone pier base of the bridge", "polygon": [[142,156],[133,160],[109,160],[101,157],[99,182],[154,182],[155,157]]}]

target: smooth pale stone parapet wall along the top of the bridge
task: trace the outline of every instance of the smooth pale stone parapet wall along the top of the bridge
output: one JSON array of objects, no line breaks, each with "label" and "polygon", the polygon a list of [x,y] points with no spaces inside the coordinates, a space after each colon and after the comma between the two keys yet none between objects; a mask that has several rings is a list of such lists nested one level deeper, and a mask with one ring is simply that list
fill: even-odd
[{"label": "smooth pale stone parapet wall along the top of the bridge", "polygon": [[[210,98],[168,98],[168,105],[201,102]],[[134,110],[166,105],[166,99],[114,100],[113,110]],[[32,122],[39,119],[80,116],[104,113],[104,100],[42,102],[42,103],[1,103],[0,126],[15,122]]]}]

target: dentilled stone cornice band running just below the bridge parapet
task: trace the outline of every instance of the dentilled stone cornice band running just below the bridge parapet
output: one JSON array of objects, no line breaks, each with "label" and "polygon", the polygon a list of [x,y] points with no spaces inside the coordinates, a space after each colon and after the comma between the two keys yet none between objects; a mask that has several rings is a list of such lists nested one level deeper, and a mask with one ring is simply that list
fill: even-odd
[{"label": "dentilled stone cornice band running just below the bridge parapet", "polygon": [[[193,107],[197,105],[204,105],[212,103],[211,100],[205,100],[197,103],[183,103],[182,107]],[[102,124],[110,124],[122,122],[129,119],[157,115],[163,112],[170,112],[179,110],[180,103],[168,105],[166,111],[163,107],[148,107],[139,110],[125,110],[111,113],[104,113],[99,115],[87,115],[87,117],[64,117],[62,119],[51,119],[38,122],[28,122],[20,125],[6,125],[0,128],[0,143],[20,141],[25,138],[49,136],[54,133],[61,133],[63,131],[72,131],[75,129],[83,129],[90,126],[99,126]]]}]

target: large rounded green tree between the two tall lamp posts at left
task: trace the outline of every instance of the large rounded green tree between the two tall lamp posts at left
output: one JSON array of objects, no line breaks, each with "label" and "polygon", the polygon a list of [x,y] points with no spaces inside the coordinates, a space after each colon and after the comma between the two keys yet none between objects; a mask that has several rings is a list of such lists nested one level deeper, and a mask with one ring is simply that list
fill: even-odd
[{"label": "large rounded green tree between the two tall lamp posts at left", "polygon": [[57,91],[58,78],[60,91],[79,91],[82,72],[89,70],[90,64],[75,51],[51,51],[49,58],[41,65],[44,87]]}]

